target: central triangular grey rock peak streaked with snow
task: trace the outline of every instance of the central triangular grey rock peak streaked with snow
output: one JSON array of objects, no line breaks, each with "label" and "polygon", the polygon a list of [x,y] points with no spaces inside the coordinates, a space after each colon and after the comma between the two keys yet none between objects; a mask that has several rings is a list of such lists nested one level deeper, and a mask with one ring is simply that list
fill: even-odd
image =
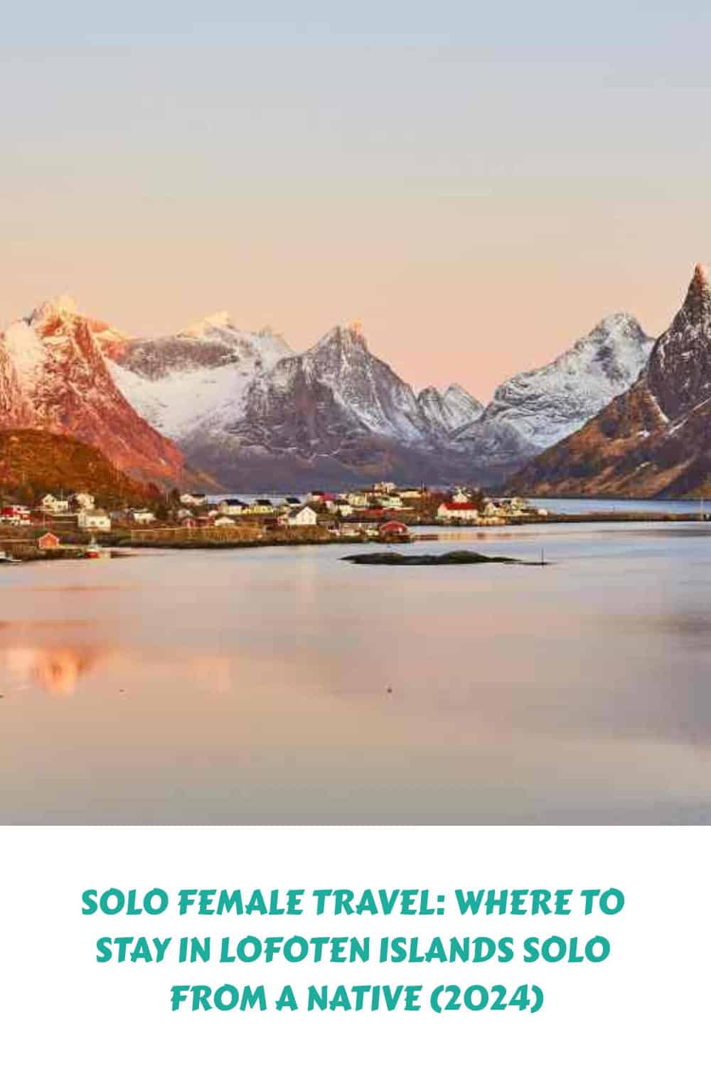
[{"label": "central triangular grey rock peak streaked with snow", "polygon": [[433,479],[452,471],[453,461],[463,477],[470,466],[441,447],[441,426],[371,353],[357,323],[279,359],[255,375],[241,399],[231,419],[223,417],[225,406],[181,438],[194,462],[237,489]]}]

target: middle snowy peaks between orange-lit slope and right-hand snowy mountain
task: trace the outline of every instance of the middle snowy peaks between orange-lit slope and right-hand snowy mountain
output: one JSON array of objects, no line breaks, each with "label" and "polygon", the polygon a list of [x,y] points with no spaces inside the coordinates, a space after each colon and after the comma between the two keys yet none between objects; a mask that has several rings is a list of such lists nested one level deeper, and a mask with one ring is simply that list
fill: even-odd
[{"label": "middle snowy peaks between orange-lit slope and right-hand snowy mountain", "polygon": [[450,434],[480,410],[459,386],[419,397],[374,356],[358,324],[296,355],[271,330],[224,317],[160,341],[135,341],[114,381],[191,462],[236,490],[316,480],[438,479],[471,473]]}]

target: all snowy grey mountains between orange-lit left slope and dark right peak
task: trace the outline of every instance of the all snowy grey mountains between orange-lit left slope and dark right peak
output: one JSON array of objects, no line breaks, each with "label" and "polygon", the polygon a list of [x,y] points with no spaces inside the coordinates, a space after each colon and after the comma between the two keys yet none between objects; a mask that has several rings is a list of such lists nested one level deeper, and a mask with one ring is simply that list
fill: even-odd
[{"label": "all snowy grey mountains between orange-lit left slope and dark right peak", "polygon": [[491,481],[581,425],[645,365],[652,341],[604,319],[552,364],[518,374],[486,407],[462,386],[416,392],[358,323],[304,353],[221,313],[172,337],[129,340],[116,386],[191,464],[231,489],[367,480]]}]

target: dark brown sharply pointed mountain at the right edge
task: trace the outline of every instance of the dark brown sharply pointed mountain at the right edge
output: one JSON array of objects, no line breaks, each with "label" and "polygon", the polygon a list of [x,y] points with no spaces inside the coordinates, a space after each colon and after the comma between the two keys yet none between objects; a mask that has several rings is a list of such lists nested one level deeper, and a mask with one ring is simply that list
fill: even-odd
[{"label": "dark brown sharply pointed mountain at the right edge", "polygon": [[711,286],[696,266],[647,369],[580,431],[511,481],[529,495],[711,492]]}]

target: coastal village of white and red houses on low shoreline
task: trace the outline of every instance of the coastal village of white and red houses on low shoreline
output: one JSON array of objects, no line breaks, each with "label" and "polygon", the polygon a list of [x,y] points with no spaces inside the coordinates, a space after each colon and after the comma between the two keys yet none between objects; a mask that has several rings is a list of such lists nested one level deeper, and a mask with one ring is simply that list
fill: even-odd
[{"label": "coastal village of white and red houses on low shoreline", "polygon": [[151,506],[99,506],[88,491],[45,494],[33,504],[0,505],[0,561],[104,558],[111,547],[228,547],[339,540],[402,543],[421,526],[503,526],[542,520],[547,511],[516,497],[490,499],[475,487],[399,487],[345,492],[209,497],[173,489]]}]

